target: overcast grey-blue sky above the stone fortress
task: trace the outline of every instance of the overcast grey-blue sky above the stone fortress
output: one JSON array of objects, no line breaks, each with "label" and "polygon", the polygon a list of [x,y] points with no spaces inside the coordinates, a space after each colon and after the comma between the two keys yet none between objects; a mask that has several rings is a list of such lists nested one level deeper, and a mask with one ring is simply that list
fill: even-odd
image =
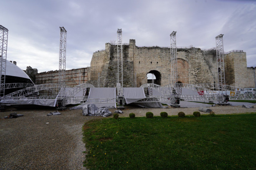
[{"label": "overcast grey-blue sky above the stone fortress", "polygon": [[215,47],[243,50],[256,66],[255,0],[0,0],[8,32],[7,60],[38,72],[59,69],[59,26],[67,30],[66,69],[88,67],[93,52],[117,39],[137,46]]}]

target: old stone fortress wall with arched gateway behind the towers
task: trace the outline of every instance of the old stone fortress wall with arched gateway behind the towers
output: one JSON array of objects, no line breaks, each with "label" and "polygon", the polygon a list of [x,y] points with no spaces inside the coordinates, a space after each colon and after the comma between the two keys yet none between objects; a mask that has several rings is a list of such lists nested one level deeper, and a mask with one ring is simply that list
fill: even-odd
[{"label": "old stone fortress wall with arched gateway behind the towers", "polygon": [[[168,84],[170,48],[137,47],[134,39],[130,39],[129,45],[122,47],[124,87],[134,87],[135,73],[137,87],[148,82],[148,73],[154,73],[156,84],[161,86]],[[255,70],[247,68],[246,52],[230,52],[225,54],[224,60],[227,85],[241,88],[254,87]],[[194,47],[177,48],[177,68],[178,82],[218,83],[216,51],[214,50],[203,51]],[[78,85],[79,72],[83,74],[81,83],[91,83],[97,87],[98,73],[100,73],[100,87],[116,87],[117,46],[106,43],[105,50],[94,52],[90,67],[66,70],[66,84],[70,87]],[[35,74],[34,80],[36,84],[58,83],[58,71]]]}]

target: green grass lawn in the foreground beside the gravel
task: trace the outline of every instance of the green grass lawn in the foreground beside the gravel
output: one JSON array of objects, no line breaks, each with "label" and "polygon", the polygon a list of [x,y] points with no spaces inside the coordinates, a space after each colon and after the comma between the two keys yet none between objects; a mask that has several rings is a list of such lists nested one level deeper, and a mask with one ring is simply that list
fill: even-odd
[{"label": "green grass lawn in the foreground beside the gravel", "polygon": [[83,131],[89,169],[256,169],[256,113],[102,118]]}]

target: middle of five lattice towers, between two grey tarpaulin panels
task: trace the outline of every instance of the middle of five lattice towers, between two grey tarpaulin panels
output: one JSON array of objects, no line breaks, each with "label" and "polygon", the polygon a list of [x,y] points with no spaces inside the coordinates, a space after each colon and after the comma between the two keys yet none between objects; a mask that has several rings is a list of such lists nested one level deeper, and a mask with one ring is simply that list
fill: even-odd
[{"label": "middle of five lattice towers, between two grey tarpaulin panels", "polygon": [[122,29],[117,29],[117,82],[121,88],[118,95],[122,96],[123,88],[123,47],[122,47]]}]

